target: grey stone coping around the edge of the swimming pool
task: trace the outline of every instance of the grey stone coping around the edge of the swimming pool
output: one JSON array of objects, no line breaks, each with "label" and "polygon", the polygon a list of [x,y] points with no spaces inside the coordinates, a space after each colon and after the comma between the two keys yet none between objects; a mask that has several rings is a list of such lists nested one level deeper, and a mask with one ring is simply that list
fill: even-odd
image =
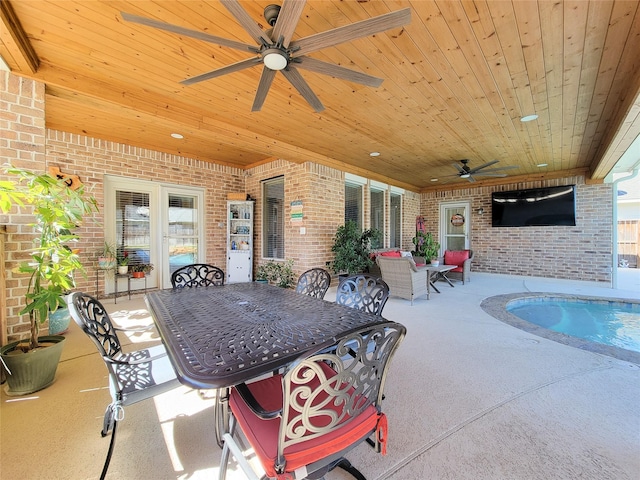
[{"label": "grey stone coping around the edge of the swimming pool", "polygon": [[507,304],[515,300],[526,299],[530,297],[544,297],[544,298],[563,298],[568,300],[594,300],[601,302],[622,302],[622,303],[640,303],[628,298],[609,298],[609,297],[596,297],[589,295],[568,295],[563,293],[549,293],[549,292],[523,292],[523,293],[509,293],[506,295],[495,295],[493,297],[485,298],[480,307],[489,315],[504,322],[512,327],[516,327],[525,332],[531,333],[538,337],[546,338],[554,342],[569,345],[570,347],[579,348],[581,350],[587,350],[589,352],[599,353],[601,355],[608,355],[618,360],[624,360],[627,362],[640,365],[640,352],[634,352],[626,350],[624,348],[614,347],[610,345],[604,345],[602,343],[592,342],[578,337],[572,337],[560,332],[554,332],[553,330],[546,329],[539,325],[517,317],[516,315],[507,311]]}]

